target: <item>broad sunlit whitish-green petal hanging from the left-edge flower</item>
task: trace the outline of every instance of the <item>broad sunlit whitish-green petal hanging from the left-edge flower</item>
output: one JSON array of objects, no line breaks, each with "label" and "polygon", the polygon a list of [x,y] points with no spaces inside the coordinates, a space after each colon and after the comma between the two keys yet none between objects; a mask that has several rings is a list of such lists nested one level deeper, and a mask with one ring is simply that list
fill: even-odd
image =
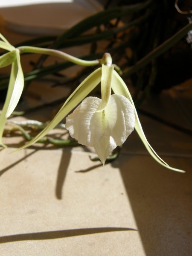
[{"label": "broad sunlit whitish-green petal hanging from the left-edge flower", "polygon": [[17,65],[17,74],[15,78],[15,84],[13,84],[13,87],[12,87],[12,95],[11,95],[11,98],[9,99],[9,106],[6,112],[6,118],[8,118],[12,114],[12,112],[15,110],[24,87],[24,76],[23,76],[23,70],[20,64],[20,54],[18,50],[16,50],[16,58],[17,59],[15,64]]}]

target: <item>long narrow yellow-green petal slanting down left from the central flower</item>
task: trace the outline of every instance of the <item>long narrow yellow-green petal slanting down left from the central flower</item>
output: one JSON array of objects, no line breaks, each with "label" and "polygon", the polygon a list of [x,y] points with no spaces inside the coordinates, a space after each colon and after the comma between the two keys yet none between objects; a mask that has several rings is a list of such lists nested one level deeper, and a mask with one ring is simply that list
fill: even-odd
[{"label": "long narrow yellow-green petal slanting down left from the central flower", "polygon": [[91,73],[89,76],[87,76],[87,78],[84,79],[81,84],[79,84],[79,86],[69,96],[69,98],[66,100],[66,102],[58,111],[56,116],[52,119],[52,121],[47,125],[47,127],[44,128],[44,130],[41,131],[35,138],[33,138],[22,147],[18,148],[17,150],[26,148],[44,137],[50,130],[52,130],[52,128],[54,128],[59,122],[61,122],[61,120],[71,110],[73,110],[73,108],[75,108],[79,104],[79,102],[81,102],[87,96],[87,94],[89,94],[99,84],[100,80],[101,68],[98,68],[97,70],[93,71],[93,73]]}]

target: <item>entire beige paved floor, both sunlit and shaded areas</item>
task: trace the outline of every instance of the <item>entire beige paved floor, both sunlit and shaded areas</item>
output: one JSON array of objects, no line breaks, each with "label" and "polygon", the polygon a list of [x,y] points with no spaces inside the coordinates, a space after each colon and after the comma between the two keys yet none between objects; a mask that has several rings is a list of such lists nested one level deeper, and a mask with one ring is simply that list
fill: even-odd
[{"label": "entire beige paved floor, both sunlit and shaded areas", "polygon": [[79,147],[0,151],[2,255],[190,255],[191,138],[148,126],[163,159],[185,174],[158,165],[136,133],[105,167]]}]

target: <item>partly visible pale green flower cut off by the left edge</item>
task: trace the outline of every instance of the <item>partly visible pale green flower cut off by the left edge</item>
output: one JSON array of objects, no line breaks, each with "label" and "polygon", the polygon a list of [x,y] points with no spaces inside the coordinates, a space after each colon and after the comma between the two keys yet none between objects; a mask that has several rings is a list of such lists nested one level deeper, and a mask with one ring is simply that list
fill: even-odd
[{"label": "partly visible pale green flower cut off by the left edge", "polygon": [[22,67],[20,64],[19,50],[13,47],[11,44],[9,44],[6,38],[4,38],[3,35],[1,34],[0,39],[0,48],[9,51],[0,57],[0,67],[6,67],[9,64],[12,64],[6,101],[3,105],[3,109],[0,114],[0,145],[5,147],[5,145],[2,143],[4,126],[7,118],[15,110],[19,102],[20,96],[23,92],[24,77]]}]

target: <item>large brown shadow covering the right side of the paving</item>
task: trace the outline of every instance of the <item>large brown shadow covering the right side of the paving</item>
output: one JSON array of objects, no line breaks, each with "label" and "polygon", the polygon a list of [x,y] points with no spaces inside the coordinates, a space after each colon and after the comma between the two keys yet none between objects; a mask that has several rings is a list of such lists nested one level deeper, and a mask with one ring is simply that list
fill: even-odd
[{"label": "large brown shadow covering the right side of the paving", "polygon": [[165,160],[178,168],[185,165],[186,173],[165,169],[150,156],[123,155],[119,171],[145,255],[191,255],[192,162],[173,157]]}]

